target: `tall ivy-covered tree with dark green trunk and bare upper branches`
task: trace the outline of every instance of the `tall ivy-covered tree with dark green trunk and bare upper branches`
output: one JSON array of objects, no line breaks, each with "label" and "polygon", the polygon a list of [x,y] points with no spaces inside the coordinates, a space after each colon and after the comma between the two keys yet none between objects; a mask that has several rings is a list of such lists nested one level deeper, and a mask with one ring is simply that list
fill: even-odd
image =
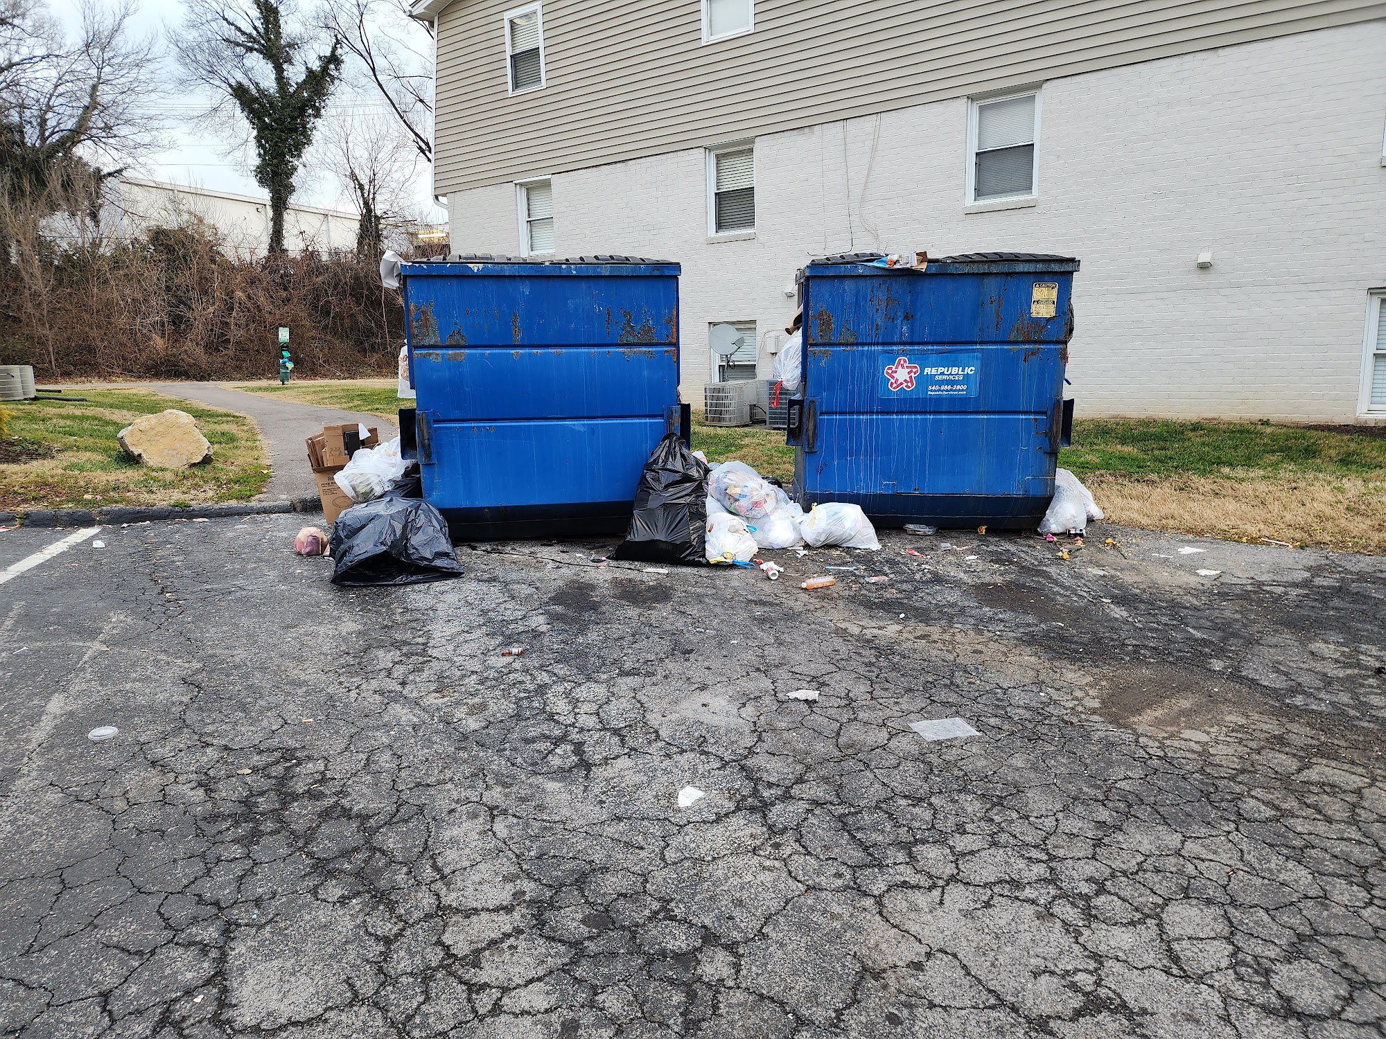
[{"label": "tall ivy-covered tree with dark green trunk and bare upper branches", "polygon": [[294,179],[342,66],[341,40],[313,54],[309,26],[295,15],[291,0],[188,0],[176,37],[188,76],[216,97],[213,118],[233,108],[249,125],[255,180],[269,191],[269,251],[280,254]]}]

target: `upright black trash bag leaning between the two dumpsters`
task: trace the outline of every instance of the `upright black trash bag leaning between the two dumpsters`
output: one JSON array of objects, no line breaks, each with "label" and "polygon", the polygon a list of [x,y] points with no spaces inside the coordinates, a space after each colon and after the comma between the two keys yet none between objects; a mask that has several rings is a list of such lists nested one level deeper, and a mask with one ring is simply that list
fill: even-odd
[{"label": "upright black trash bag leaning between the two dumpsters", "polygon": [[707,474],[707,463],[678,434],[665,435],[644,463],[631,531],[611,558],[704,565]]}]

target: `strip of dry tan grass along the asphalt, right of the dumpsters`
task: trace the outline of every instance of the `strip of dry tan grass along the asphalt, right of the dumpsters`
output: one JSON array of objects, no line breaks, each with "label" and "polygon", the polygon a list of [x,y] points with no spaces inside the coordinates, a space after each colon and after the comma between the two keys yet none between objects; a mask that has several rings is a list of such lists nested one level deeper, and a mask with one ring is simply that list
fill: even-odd
[{"label": "strip of dry tan grass along the asphalt, right of the dumpsters", "polygon": [[1082,477],[1107,520],[1149,531],[1386,553],[1386,482],[1326,474],[1249,479]]}]

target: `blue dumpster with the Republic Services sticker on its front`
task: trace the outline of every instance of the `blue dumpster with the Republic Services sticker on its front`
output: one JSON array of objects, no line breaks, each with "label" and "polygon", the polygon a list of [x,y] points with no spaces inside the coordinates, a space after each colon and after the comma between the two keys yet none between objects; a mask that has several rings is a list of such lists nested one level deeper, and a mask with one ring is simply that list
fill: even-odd
[{"label": "blue dumpster with the Republic Services sticker on its front", "polygon": [[[876,262],[873,262],[876,260]],[[987,252],[801,276],[804,388],[790,402],[800,503],[881,526],[1034,526],[1053,495],[1078,260]]]}]

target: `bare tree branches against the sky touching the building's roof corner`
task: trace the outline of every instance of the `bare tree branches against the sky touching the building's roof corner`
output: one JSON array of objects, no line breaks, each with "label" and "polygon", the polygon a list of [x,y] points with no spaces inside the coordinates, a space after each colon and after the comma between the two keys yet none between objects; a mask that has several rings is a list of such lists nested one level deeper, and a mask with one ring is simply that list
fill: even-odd
[{"label": "bare tree branches against the sky touching the building's roof corner", "polygon": [[409,17],[407,0],[323,0],[317,17],[342,42],[353,86],[378,93],[432,162],[432,28]]}]

